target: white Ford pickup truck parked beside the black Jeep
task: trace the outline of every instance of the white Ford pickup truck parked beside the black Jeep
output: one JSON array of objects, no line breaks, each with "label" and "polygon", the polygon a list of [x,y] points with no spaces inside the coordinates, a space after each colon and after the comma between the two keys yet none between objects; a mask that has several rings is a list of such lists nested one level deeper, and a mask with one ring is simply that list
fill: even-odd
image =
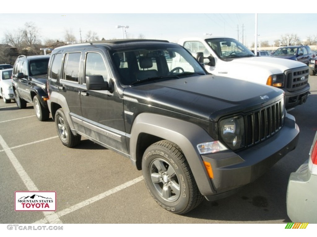
[{"label": "white Ford pickup truck parked beside the black Jeep", "polygon": [[[191,52],[212,74],[284,90],[286,109],[307,100],[310,86],[306,64],[282,58],[256,57],[239,41],[226,37],[184,38],[178,44]],[[177,62],[177,65],[181,63]]]}]

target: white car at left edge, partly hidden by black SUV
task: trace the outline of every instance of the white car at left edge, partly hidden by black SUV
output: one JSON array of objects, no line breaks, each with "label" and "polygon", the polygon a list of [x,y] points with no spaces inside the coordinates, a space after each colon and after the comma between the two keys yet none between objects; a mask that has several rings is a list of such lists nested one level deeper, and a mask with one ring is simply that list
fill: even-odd
[{"label": "white car at left edge, partly hidden by black SUV", "polygon": [[10,103],[15,100],[12,90],[12,68],[0,70],[0,96],[2,96],[4,103]]}]

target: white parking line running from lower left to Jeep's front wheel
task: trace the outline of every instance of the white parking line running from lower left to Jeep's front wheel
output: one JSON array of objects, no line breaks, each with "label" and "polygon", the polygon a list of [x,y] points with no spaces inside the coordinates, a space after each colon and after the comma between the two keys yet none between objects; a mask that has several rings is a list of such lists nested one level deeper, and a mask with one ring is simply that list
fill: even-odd
[{"label": "white parking line running from lower left to Jeep's front wheel", "polygon": [[[125,189],[125,188],[127,188],[127,187],[129,187],[129,186],[131,186],[133,184],[136,184],[136,183],[140,182],[141,180],[143,180],[143,176],[140,176],[138,178],[130,180],[130,181],[128,181],[128,182],[126,182],[124,184],[121,184],[121,185],[119,185],[119,186],[117,186],[117,187],[115,187],[113,189],[110,189],[108,191],[105,191],[103,193],[98,194],[97,196],[94,196],[94,197],[91,197],[91,198],[89,198],[89,199],[87,199],[85,201],[82,201],[81,203],[75,204],[75,205],[73,205],[71,207],[68,207],[68,208],[66,208],[64,210],[61,210],[61,211],[57,212],[56,214],[57,214],[58,217],[65,216],[66,214],[69,214],[69,213],[71,213],[71,212],[73,212],[75,210],[78,210],[78,209],[80,209],[82,207],[85,207],[85,206],[87,206],[89,204],[92,204],[92,203],[94,203],[96,201],[99,201],[100,199],[102,199],[104,197],[107,197],[107,196],[109,196],[111,194],[114,194],[114,193],[120,191],[120,190],[123,190],[123,189]],[[43,218],[41,220],[38,220],[37,222],[34,222],[33,224],[46,224],[46,223],[47,223],[47,221],[45,220],[45,218]]]}]

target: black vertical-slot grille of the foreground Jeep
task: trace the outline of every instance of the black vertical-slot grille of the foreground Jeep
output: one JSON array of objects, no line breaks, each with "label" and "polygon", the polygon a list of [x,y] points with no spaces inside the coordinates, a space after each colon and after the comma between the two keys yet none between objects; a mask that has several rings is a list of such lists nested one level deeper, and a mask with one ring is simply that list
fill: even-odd
[{"label": "black vertical-slot grille of the foreground Jeep", "polygon": [[281,129],[282,109],[281,101],[279,101],[246,115],[246,147],[267,139]]}]

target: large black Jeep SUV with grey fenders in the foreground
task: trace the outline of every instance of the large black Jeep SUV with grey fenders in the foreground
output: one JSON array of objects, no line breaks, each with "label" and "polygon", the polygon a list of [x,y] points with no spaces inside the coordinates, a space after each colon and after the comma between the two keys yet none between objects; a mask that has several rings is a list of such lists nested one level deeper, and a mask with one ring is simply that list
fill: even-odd
[{"label": "large black Jeep SUV with grey fenders in the foreground", "polygon": [[173,213],[230,195],[298,141],[281,89],[211,75],[168,41],[58,47],[48,78],[61,143],[84,136],[128,157]]}]

